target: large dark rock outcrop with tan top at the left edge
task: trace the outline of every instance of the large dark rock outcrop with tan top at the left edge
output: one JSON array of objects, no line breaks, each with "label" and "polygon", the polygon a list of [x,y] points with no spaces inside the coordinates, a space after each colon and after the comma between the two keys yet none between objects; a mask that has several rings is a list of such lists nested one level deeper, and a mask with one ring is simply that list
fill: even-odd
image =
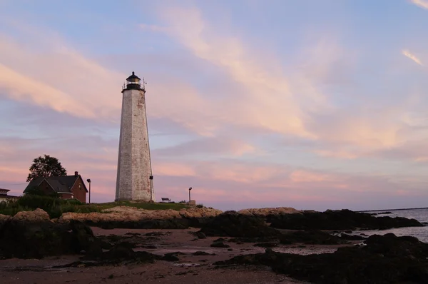
[{"label": "large dark rock outcrop with tan top at the left edge", "polygon": [[53,223],[45,213],[20,212],[6,220],[0,227],[0,258],[44,258],[82,250],[86,255],[101,253],[91,228],[78,221]]}]

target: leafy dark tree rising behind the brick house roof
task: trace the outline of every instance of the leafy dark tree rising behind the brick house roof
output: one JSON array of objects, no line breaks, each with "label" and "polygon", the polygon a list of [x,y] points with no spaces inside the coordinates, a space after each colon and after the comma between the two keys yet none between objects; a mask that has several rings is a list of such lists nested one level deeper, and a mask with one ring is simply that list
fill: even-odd
[{"label": "leafy dark tree rising behind the brick house roof", "polygon": [[61,166],[57,158],[45,154],[44,157],[39,156],[39,158],[34,159],[27,181],[32,181],[34,178],[41,176],[44,178],[48,178],[49,176],[67,176],[67,171]]}]

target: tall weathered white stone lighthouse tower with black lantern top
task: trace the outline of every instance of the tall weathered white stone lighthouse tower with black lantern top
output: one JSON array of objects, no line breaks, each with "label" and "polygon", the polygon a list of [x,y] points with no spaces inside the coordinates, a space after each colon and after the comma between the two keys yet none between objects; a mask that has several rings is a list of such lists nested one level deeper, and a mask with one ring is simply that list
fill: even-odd
[{"label": "tall weathered white stone lighthouse tower with black lantern top", "polygon": [[132,72],[122,90],[116,201],[155,201],[144,85]]}]

